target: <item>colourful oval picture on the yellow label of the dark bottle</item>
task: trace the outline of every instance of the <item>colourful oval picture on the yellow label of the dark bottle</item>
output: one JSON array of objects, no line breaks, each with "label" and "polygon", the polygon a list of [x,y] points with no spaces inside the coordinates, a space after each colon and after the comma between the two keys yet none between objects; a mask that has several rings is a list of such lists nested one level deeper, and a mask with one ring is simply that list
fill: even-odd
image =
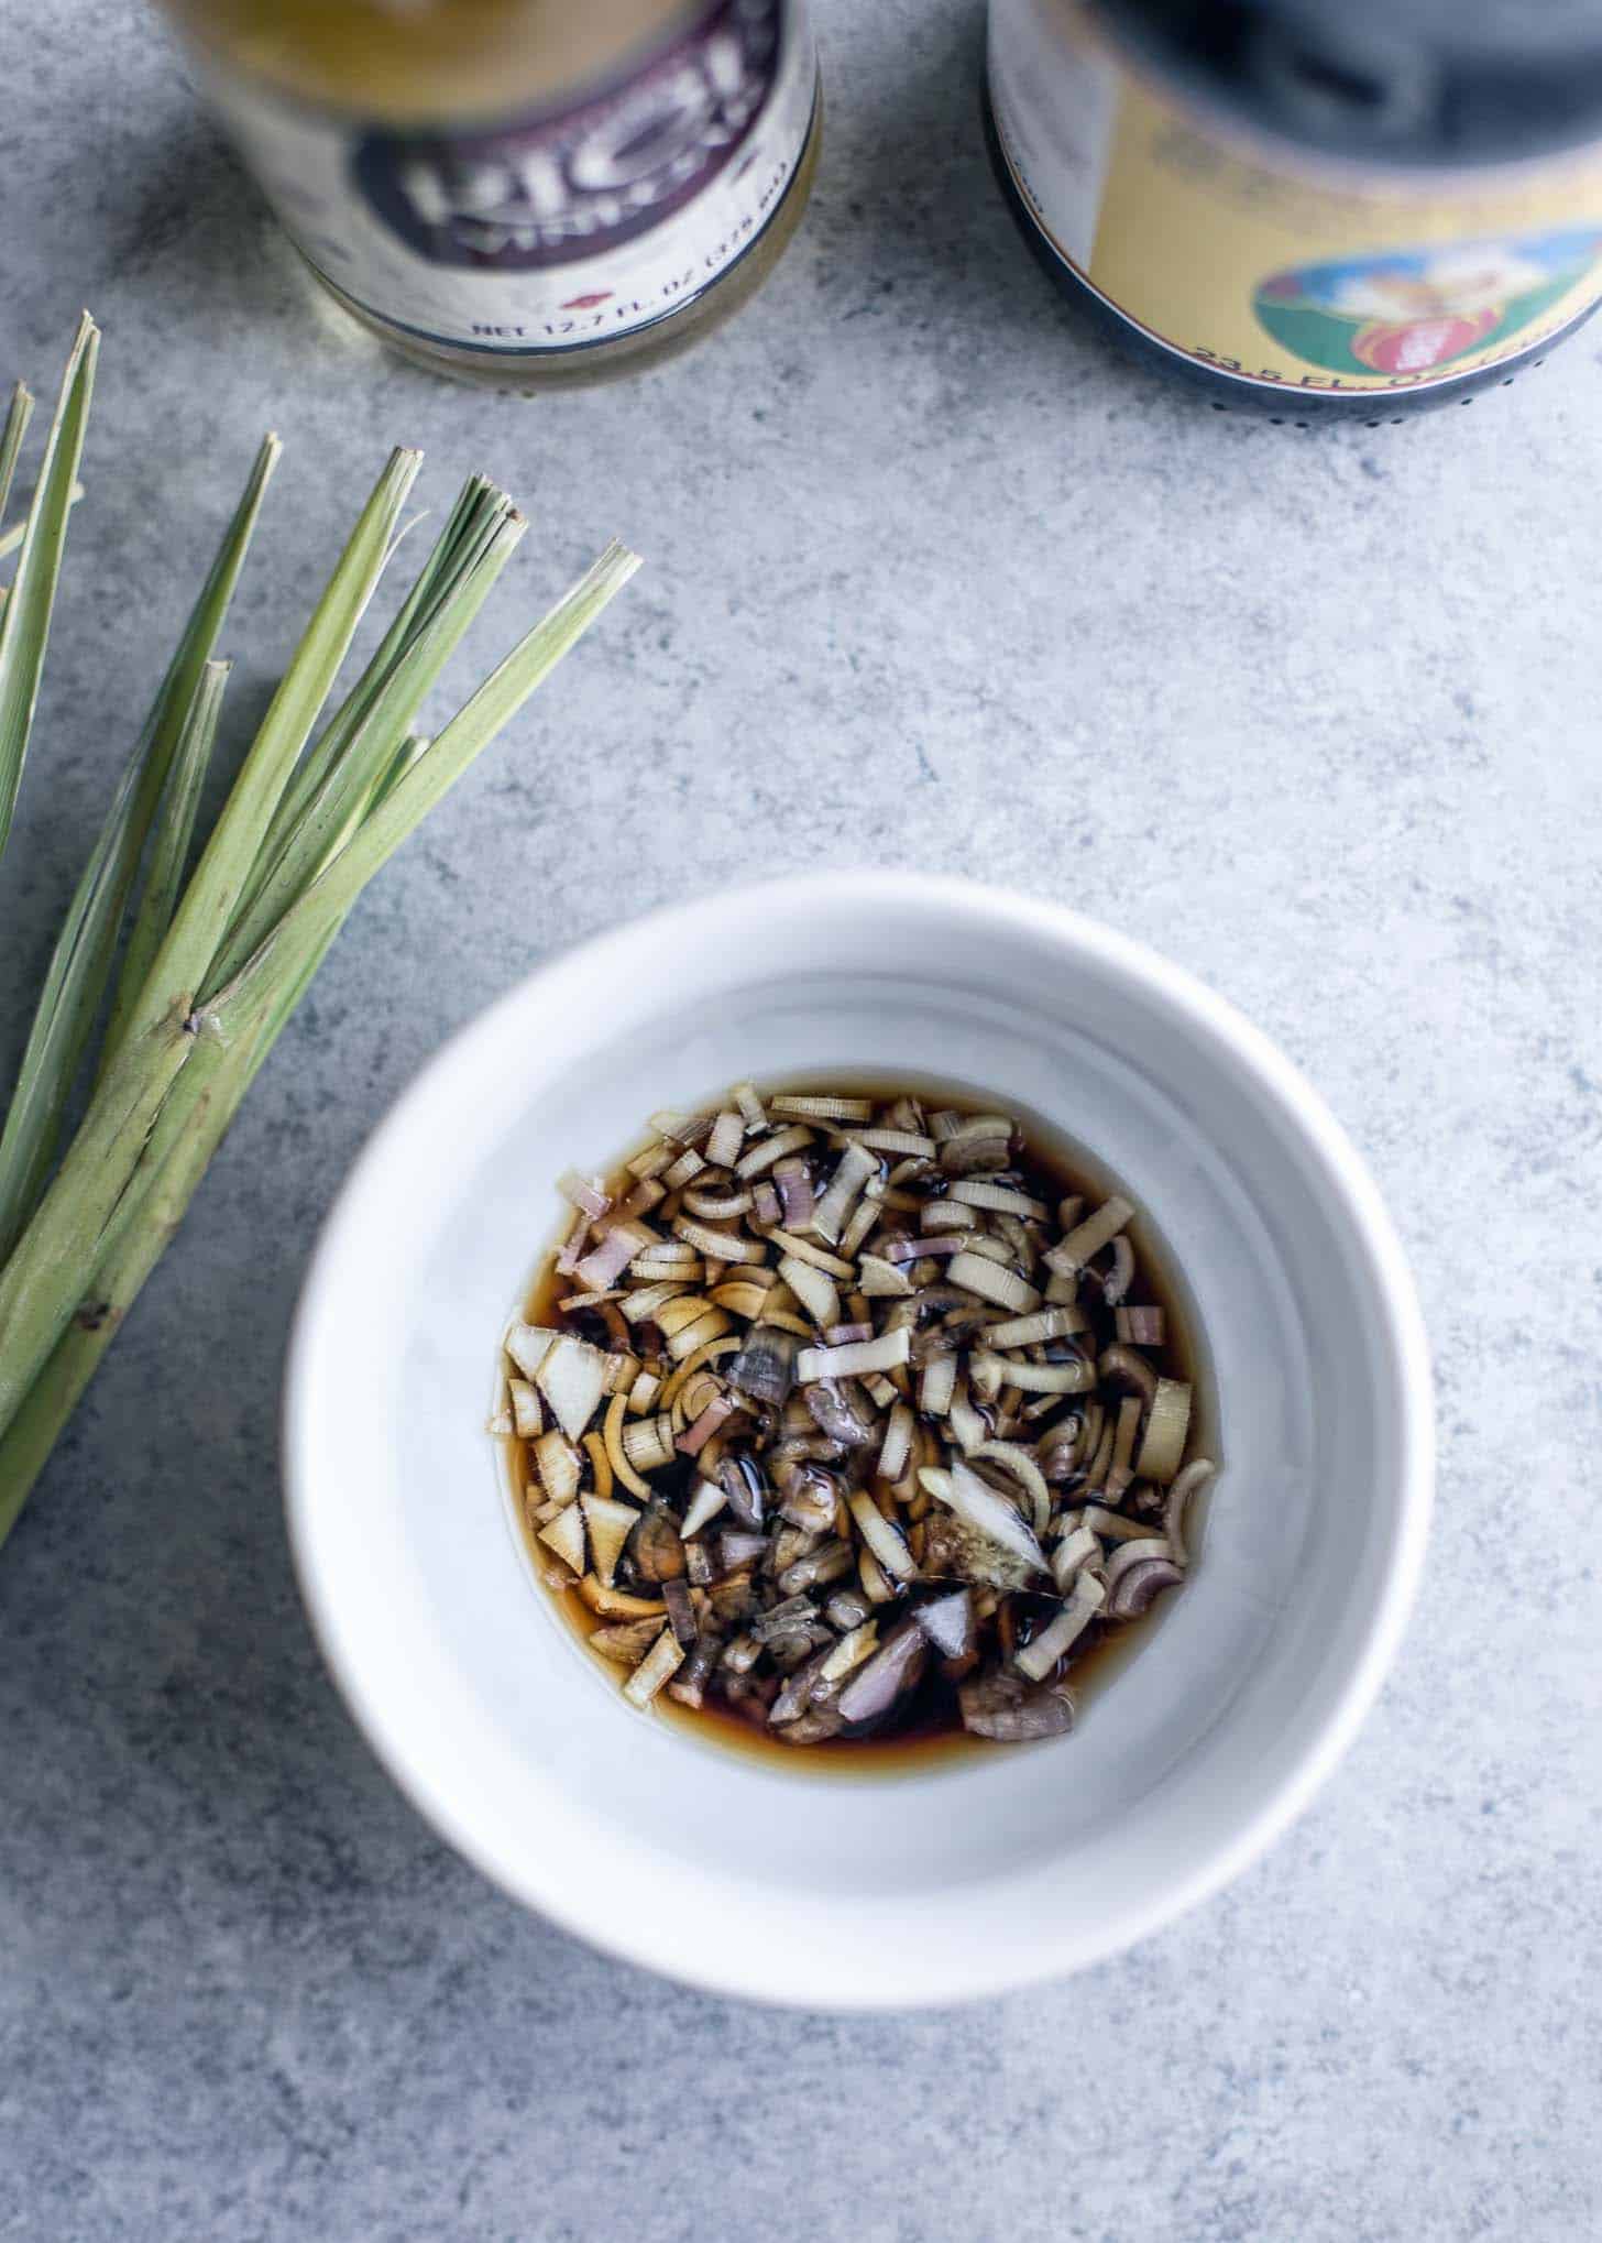
[{"label": "colourful oval picture on the yellow label of the dark bottle", "polygon": [[1259,283],[1252,310],[1333,375],[1425,375],[1517,336],[1598,258],[1598,227],[1440,242],[1288,267]]}]

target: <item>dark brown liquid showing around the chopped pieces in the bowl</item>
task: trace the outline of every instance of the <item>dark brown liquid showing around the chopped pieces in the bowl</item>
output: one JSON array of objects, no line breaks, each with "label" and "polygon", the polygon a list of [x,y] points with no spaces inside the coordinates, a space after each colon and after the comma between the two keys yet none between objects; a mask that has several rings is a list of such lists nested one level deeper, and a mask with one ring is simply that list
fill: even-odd
[{"label": "dark brown liquid showing around the chopped pieces in the bowl", "polygon": [[[756,1083],[763,1099],[776,1095],[801,1095],[801,1092],[839,1092],[841,1097],[873,1099],[875,1106],[886,1106],[900,1097],[920,1099],[927,1113],[949,1108],[954,1113],[1010,1113],[1023,1135],[1023,1151],[1012,1160],[1012,1173],[1016,1173],[1034,1198],[1046,1200],[1057,1211],[1059,1200],[1084,1198],[1086,1213],[1102,1204],[1102,1200],[1113,1193],[1122,1193],[1126,1200],[1135,1202],[1135,1220],[1129,1225],[1129,1238],[1135,1249],[1135,1283],[1131,1285],[1129,1301],[1124,1308],[1153,1305],[1162,1310],[1164,1344],[1160,1348],[1144,1348],[1142,1353],[1151,1359],[1153,1368],[1164,1379],[1185,1379],[1191,1386],[1191,1429],[1187,1440],[1187,1456],[1212,1456],[1218,1460],[1218,1409],[1212,1382],[1212,1362],[1207,1355],[1205,1337],[1200,1330],[1200,1319],[1196,1314],[1196,1303],[1191,1292],[1169,1252],[1167,1240],[1147,1213],[1142,1198],[1131,1191],[1104,1160],[1097,1160],[1075,1139],[1066,1137],[1059,1128],[1052,1128],[1037,1113],[1021,1106],[1016,1099],[1003,1099],[996,1095],[985,1095],[967,1083],[942,1081],[940,1077],[927,1074],[862,1074],[857,1070],[819,1070],[810,1074],[785,1074],[774,1081]],[[727,1086],[722,1086],[711,1097],[698,1101],[696,1113],[716,1113],[722,1104]],[[633,1144],[613,1169],[606,1173],[606,1191],[622,1196],[630,1184],[633,1175],[626,1173],[624,1162],[642,1153],[646,1144],[655,1137],[646,1130],[637,1144]],[[534,1283],[530,1285],[525,1301],[525,1319],[530,1323],[559,1323],[556,1303],[572,1290],[572,1279],[556,1276],[556,1254],[561,1240],[554,1240],[541,1256]],[[1113,1341],[1113,1310],[1104,1308],[1095,1292],[1081,1296],[1081,1305],[1095,1317],[1095,1350]],[[604,1341],[604,1332],[597,1335]],[[514,1510],[521,1521],[523,1539],[530,1550],[541,1581],[550,1579],[552,1561],[547,1552],[541,1550],[534,1527],[523,1503],[523,1487],[534,1478],[534,1465],[530,1456],[530,1442],[507,1440],[507,1469],[512,1474],[512,1498]],[[693,1478],[693,1462],[684,1458],[682,1467],[669,1467],[666,1471],[651,1474],[651,1485],[660,1487],[664,1496],[680,1507],[680,1496],[689,1492]],[[1207,1523],[1207,1494],[1203,1492],[1187,1512],[1187,1541],[1191,1545],[1191,1570],[1196,1568],[1196,1550],[1205,1539]],[[1153,1532],[1160,1532],[1153,1527]],[[850,1586],[848,1581],[841,1586]],[[608,1622],[601,1619],[577,1588],[552,1590],[552,1604],[561,1610],[568,1626],[588,1640],[597,1628]],[[1079,1637],[1075,1651],[1066,1667],[1066,1680],[1072,1687],[1075,1705],[1084,1714],[1090,1698],[1099,1696],[1106,1684],[1122,1673],[1129,1660],[1140,1651],[1140,1646],[1151,1637],[1151,1633],[1162,1624],[1162,1613],[1173,1597],[1182,1597],[1185,1588],[1173,1588],[1169,1595],[1158,1597],[1153,1608],[1133,1622],[1120,1622],[1113,1626],[1102,1626],[1093,1622],[1086,1635]],[[1028,1610],[1028,1593],[1014,1593],[1014,1604]],[[1039,1624],[1057,1610],[1057,1599],[1039,1599]],[[624,1667],[615,1667],[610,1660],[601,1662],[606,1673],[622,1682],[626,1676]],[[938,1660],[929,1660],[927,1671],[918,1689],[902,1698],[897,1705],[897,1716],[893,1725],[875,1729],[868,1736],[832,1736],[817,1745],[785,1745],[765,1729],[756,1727],[745,1714],[738,1714],[731,1705],[725,1705],[716,1693],[707,1693],[700,1709],[680,1705],[660,1691],[653,1711],[666,1718],[673,1727],[682,1727],[689,1736],[711,1738],[720,1745],[729,1745],[736,1752],[754,1754],[765,1765],[792,1763],[797,1770],[817,1774],[828,1770],[830,1774],[848,1774],[853,1770],[864,1774],[891,1774],[902,1770],[927,1770],[938,1761],[967,1759],[969,1754],[994,1754],[1016,1747],[992,1745],[985,1738],[969,1736],[963,1727],[963,1714],[956,1700],[956,1682],[949,1682],[940,1673]]]}]

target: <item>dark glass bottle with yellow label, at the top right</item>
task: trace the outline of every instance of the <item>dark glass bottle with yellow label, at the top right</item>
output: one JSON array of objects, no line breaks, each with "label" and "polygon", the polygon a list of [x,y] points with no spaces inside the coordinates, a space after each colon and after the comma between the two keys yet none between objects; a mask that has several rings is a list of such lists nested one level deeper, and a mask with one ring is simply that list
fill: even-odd
[{"label": "dark glass bottle with yellow label, at the top right", "polygon": [[1602,0],[989,0],[987,96],[1039,260],[1218,408],[1467,401],[1602,298]]}]

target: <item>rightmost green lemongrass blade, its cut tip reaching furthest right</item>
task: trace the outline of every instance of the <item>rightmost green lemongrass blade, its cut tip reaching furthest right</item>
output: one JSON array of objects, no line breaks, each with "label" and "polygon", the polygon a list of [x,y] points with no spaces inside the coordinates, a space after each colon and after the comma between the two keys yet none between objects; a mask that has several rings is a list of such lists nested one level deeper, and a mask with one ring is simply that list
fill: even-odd
[{"label": "rightmost green lemongrass blade, its cut tip reaching furthest right", "polygon": [[289,906],[233,982],[209,1000],[224,1034],[231,1032],[231,1023],[249,1034],[258,1007],[271,1003],[271,991],[285,980],[298,978],[305,956],[321,949],[328,931],[343,920],[372,875],[449,794],[462,772],[518,713],[530,693],[583,637],[637,567],[639,556],[613,541],[550,615],[512,648],[478,693],[458,709],[426,754],[375,801],[328,870]]}]

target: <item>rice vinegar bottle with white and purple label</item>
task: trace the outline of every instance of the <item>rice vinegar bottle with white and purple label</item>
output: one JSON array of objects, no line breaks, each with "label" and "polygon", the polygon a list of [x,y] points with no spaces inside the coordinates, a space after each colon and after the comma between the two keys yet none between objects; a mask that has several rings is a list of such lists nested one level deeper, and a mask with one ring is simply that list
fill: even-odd
[{"label": "rice vinegar bottle with white and purple label", "polygon": [[772,269],[819,139],[805,0],[164,0],[323,287],[440,372],[633,372]]}]

